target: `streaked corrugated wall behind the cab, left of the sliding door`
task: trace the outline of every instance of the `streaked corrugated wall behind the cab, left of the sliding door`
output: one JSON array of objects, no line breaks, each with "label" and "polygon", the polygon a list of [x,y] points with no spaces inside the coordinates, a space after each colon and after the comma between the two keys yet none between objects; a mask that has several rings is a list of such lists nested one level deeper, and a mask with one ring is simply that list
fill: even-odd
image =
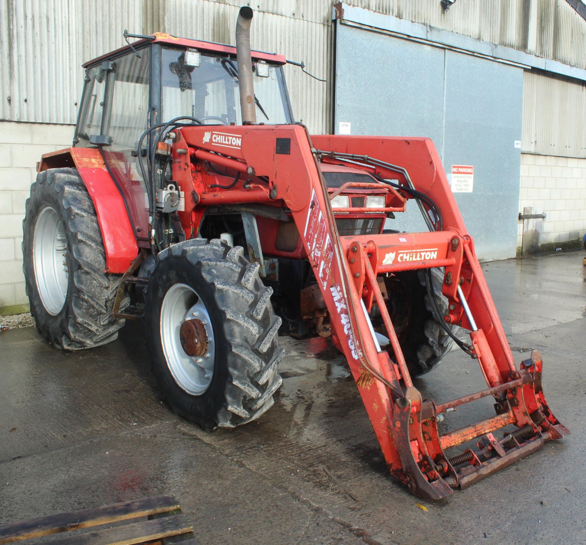
[{"label": "streaked corrugated wall behind the cab, left of the sliding door", "polygon": [[[234,43],[241,2],[210,0],[6,0],[0,5],[0,119],[73,124],[81,97],[81,64],[125,44],[122,33],[158,30]],[[305,61],[328,83],[287,66],[297,120],[312,132],[331,126],[331,24],[295,16],[288,0],[257,0],[253,49]],[[311,4],[311,2],[310,2]],[[329,12],[329,4],[321,2]]]}]

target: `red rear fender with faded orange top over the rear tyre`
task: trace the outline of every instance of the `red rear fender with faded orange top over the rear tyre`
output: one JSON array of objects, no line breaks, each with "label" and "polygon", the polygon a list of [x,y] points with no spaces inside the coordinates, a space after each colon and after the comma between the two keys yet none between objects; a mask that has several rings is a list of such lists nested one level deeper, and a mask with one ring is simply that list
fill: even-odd
[{"label": "red rear fender with faded orange top over the rear tyre", "polygon": [[122,274],[138,255],[137,239],[128,218],[124,200],[112,180],[100,150],[66,148],[45,153],[38,171],[74,167],[86,185],[96,209],[106,254],[106,272]]}]

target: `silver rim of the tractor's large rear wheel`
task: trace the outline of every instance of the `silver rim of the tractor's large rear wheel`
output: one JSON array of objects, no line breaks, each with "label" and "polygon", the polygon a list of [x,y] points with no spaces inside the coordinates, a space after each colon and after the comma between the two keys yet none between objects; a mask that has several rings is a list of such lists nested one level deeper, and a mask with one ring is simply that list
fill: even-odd
[{"label": "silver rim of the tractor's large rear wheel", "polygon": [[63,222],[54,208],[40,211],[33,235],[33,266],[35,282],[45,310],[59,314],[67,299],[67,236]]}]

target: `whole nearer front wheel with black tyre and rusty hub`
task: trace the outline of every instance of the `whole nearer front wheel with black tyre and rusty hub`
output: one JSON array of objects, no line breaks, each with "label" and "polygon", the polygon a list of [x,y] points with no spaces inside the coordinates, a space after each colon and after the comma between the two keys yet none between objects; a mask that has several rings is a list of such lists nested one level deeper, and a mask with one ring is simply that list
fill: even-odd
[{"label": "whole nearer front wheel with black tyre and rusty hub", "polygon": [[204,430],[257,419],[281,386],[281,318],[243,248],[190,239],[159,253],[145,294],[153,372],[166,402]]}]

